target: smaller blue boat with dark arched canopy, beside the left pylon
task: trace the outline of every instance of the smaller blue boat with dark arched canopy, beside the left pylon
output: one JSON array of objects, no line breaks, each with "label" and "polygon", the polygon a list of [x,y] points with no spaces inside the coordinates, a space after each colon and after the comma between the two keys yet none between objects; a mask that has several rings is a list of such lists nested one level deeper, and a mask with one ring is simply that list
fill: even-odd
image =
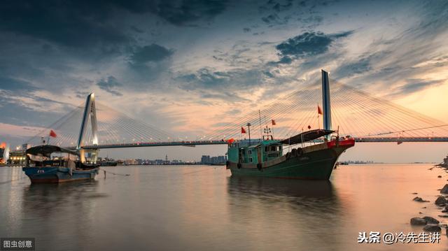
[{"label": "smaller blue boat with dark arched canopy, beside the left pylon", "polygon": [[38,145],[26,154],[27,166],[22,170],[31,183],[91,180],[99,171],[99,164],[81,163],[78,152],[57,145]]}]

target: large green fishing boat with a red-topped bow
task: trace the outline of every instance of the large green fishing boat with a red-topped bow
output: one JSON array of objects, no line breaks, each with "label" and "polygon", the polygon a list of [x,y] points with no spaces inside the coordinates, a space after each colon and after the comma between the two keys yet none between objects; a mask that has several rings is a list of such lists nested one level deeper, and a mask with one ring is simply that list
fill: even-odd
[{"label": "large green fishing boat with a red-topped bow", "polygon": [[[339,156],[355,145],[354,138],[330,136],[335,131],[314,129],[284,140],[263,137],[251,141],[232,142],[228,145],[226,166],[232,175],[252,175],[272,178],[328,180]],[[297,147],[283,155],[283,145],[316,142],[314,145]]]}]

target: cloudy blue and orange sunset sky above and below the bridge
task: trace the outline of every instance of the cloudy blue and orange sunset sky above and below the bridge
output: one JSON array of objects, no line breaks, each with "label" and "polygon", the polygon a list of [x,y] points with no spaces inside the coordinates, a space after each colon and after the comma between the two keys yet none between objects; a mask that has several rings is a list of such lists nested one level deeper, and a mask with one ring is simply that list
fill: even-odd
[{"label": "cloudy blue and orange sunset sky above and below the bridge", "polygon": [[[22,143],[90,92],[193,137],[300,88],[320,69],[447,121],[447,24],[447,1],[2,1],[0,141]],[[444,143],[359,145],[343,157],[437,162],[448,152]],[[102,151],[186,160],[223,153],[225,146]]]}]

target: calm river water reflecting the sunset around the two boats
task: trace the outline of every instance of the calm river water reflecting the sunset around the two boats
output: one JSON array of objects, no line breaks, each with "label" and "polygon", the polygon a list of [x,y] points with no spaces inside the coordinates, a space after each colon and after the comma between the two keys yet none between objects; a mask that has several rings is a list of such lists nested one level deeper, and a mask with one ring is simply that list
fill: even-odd
[{"label": "calm river water reflecting the sunset around the two boats", "polygon": [[439,244],[358,243],[360,231],[421,233],[411,217],[448,223],[433,203],[448,175],[430,167],[339,166],[327,182],[118,166],[105,169],[130,175],[61,185],[1,167],[0,237],[36,238],[36,250],[447,250],[444,229]]}]

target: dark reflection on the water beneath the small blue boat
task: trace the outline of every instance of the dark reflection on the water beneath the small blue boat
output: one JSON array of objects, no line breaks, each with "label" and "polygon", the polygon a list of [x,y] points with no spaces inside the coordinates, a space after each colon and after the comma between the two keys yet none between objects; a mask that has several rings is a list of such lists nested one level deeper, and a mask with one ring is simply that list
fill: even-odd
[{"label": "dark reflection on the water beneath the small blue boat", "polygon": [[106,196],[97,190],[95,180],[24,187],[26,199],[22,200],[20,213],[27,220],[20,222],[22,232],[18,236],[33,236],[42,250],[85,250],[83,242],[94,241],[91,229],[95,224],[96,201]]}]

